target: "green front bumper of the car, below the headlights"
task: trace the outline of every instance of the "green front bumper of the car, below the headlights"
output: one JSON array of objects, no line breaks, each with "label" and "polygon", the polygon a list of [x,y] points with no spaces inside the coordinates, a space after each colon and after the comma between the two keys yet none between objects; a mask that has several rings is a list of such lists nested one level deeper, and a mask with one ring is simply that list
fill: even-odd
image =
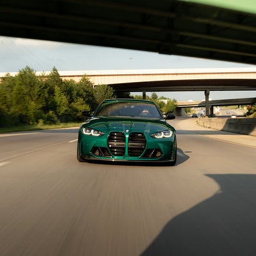
[{"label": "green front bumper of the car, below the headlights", "polygon": [[[172,162],[175,159],[176,147],[175,134],[171,138],[161,139],[145,134],[144,144],[132,144],[129,142],[129,134],[125,136],[123,143],[109,143],[109,134],[95,138],[79,132],[78,138],[79,156],[86,160]],[[120,150],[121,154],[116,154]]]}]

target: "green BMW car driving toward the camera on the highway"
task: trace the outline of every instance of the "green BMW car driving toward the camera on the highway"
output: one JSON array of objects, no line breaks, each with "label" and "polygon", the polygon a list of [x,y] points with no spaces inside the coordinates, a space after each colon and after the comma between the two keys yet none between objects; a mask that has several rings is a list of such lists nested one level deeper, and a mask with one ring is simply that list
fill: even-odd
[{"label": "green BMW car driving toward the camera on the highway", "polygon": [[104,100],[81,125],[77,160],[168,162],[177,160],[176,132],[150,100]]}]

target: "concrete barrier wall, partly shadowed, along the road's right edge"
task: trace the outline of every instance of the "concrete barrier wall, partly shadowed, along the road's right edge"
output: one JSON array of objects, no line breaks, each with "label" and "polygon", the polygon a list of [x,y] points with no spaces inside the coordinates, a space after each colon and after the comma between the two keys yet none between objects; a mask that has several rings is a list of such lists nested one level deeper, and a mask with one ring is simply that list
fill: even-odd
[{"label": "concrete barrier wall, partly shadowed, along the road's right edge", "polygon": [[256,118],[198,118],[198,124],[220,131],[256,136]]}]

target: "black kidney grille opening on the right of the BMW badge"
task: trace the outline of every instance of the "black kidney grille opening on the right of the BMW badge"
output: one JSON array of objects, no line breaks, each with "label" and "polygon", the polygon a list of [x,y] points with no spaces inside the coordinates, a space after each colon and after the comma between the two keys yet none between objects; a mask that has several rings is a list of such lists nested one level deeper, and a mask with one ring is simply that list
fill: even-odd
[{"label": "black kidney grille opening on the right of the BMW badge", "polygon": [[129,156],[141,156],[146,147],[146,137],[142,132],[132,132],[129,135],[128,154]]}]

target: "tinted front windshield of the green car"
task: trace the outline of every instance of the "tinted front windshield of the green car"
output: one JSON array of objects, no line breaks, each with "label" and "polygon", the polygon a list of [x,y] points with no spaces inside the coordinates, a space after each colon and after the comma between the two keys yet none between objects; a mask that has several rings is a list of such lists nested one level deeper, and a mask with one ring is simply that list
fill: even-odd
[{"label": "tinted front windshield of the green car", "polygon": [[94,116],[162,118],[156,105],[147,102],[103,102]]}]

